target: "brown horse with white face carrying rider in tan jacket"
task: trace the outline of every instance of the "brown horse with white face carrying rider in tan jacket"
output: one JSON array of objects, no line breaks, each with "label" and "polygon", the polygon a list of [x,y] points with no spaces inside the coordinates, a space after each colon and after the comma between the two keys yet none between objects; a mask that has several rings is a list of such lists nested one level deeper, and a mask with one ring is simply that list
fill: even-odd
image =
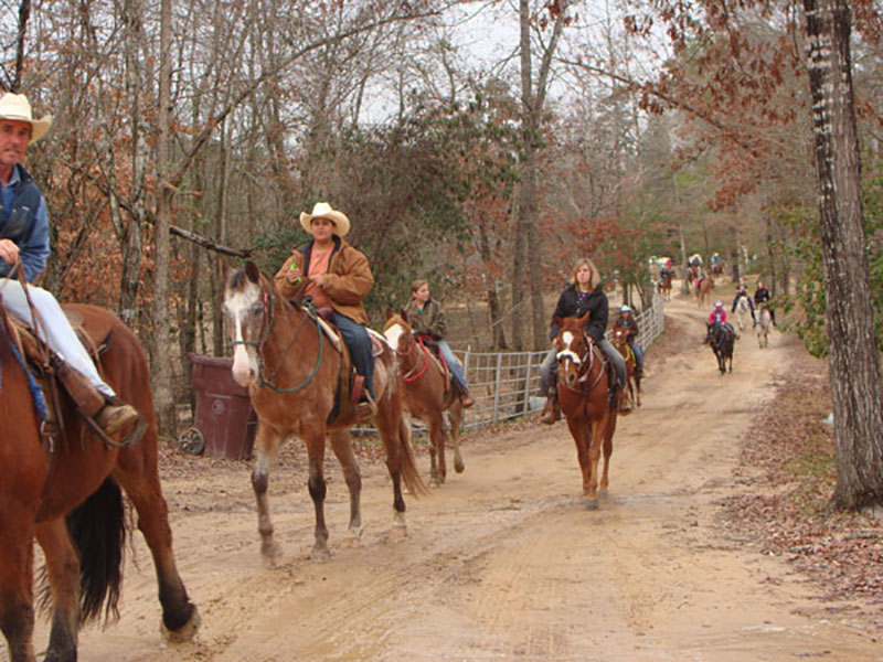
[{"label": "brown horse with white face carrying rider in tan jacket", "polygon": [[[284,299],[274,282],[253,263],[246,263],[244,269],[227,269],[225,280],[223,306],[234,348],[233,378],[248,387],[257,413],[252,485],[257,499],[260,552],[268,564],[278,558],[267,500],[269,468],[281,444],[289,437],[299,437],[307,445],[308,488],[316,511],[313,558],[327,558],[326,435],[350,492],[350,535],[358,542],[362,533],[362,478],[349,434],[358,423],[355,406],[341,395],[348,392],[345,381],[349,380],[342,370],[344,355],[326,338],[316,313]],[[417,471],[411,434],[402,417],[395,357],[385,343],[374,364],[374,425],[383,439],[393,483],[393,525],[404,536],[407,530],[402,480],[415,494],[425,493],[426,487]]]}]

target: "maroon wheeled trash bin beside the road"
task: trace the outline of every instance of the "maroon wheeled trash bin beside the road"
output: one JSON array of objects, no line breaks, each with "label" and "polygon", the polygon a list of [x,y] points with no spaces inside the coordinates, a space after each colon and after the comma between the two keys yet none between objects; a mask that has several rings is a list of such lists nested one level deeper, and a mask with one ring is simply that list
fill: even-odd
[{"label": "maroon wheeled trash bin beside the road", "polygon": [[193,427],[182,435],[181,449],[234,460],[252,457],[257,415],[252,408],[248,389],[233,380],[233,359],[189,356],[196,414]]}]

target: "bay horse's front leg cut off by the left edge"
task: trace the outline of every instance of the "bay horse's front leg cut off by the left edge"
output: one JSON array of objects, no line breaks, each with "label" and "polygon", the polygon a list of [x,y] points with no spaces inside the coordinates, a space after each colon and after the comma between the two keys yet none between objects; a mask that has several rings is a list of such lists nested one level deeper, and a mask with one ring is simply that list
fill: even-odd
[{"label": "bay horse's front leg cut off by the left edge", "polygon": [[0,630],[7,638],[10,662],[34,662],[34,595],[32,511],[14,508],[4,499],[0,512]]}]

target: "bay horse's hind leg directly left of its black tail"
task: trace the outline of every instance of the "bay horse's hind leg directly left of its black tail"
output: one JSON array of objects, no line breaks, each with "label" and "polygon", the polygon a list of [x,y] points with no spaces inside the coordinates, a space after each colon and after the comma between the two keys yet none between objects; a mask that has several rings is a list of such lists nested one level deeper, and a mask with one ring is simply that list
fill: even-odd
[{"label": "bay horse's hind leg directly left of its black tail", "polygon": [[79,557],[64,517],[42,522],[34,532],[46,559],[52,592],[52,627],[45,660],[73,662],[79,624]]}]

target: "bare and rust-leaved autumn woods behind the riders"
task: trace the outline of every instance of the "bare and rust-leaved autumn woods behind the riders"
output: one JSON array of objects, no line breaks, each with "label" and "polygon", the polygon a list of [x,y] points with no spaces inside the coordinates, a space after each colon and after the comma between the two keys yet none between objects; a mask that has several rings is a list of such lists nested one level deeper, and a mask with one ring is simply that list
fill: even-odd
[{"label": "bare and rust-leaved autumn woods behind the riders", "polygon": [[[880,311],[881,22],[876,3],[853,6]],[[53,225],[42,284],[136,329],[166,434],[188,353],[227,353],[219,256],[275,271],[319,200],[349,215],[371,259],[373,325],[426,277],[446,306],[475,307],[474,346],[539,349],[577,256],[640,302],[649,256],[720,252],[827,351],[799,3],[1,7],[3,87],[55,117],[28,162]],[[874,323],[880,346],[879,312]]]}]

